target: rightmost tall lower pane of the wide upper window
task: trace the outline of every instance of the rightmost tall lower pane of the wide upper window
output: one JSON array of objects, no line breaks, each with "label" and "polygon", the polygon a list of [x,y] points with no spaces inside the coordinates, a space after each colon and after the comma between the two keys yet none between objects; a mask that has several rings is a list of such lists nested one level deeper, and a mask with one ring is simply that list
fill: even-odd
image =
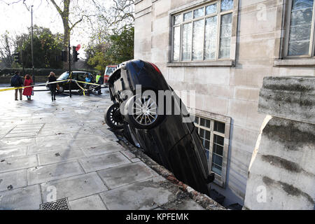
[{"label": "rightmost tall lower pane of the wide upper window", "polygon": [[232,13],[221,16],[220,58],[230,58]]}]

